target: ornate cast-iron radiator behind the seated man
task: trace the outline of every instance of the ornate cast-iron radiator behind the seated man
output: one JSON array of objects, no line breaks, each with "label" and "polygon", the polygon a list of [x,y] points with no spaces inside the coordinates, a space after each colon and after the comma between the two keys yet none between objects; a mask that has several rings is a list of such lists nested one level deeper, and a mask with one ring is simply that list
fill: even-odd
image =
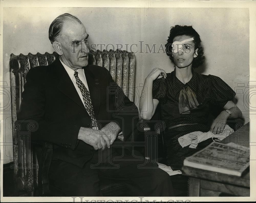
[{"label": "ornate cast-iron radiator behind the seated man", "polygon": [[[27,145],[29,142],[26,132],[21,136],[18,126],[15,125],[17,112],[20,110],[23,86],[29,69],[39,65],[49,65],[58,57],[56,52],[49,54],[10,55],[10,85],[12,99],[12,127],[13,127],[13,152],[14,152],[14,176],[19,189],[25,189],[27,195],[34,195],[34,188],[38,187],[38,163],[35,152]],[[133,101],[134,96],[134,53],[110,50],[91,51],[89,64],[105,67],[110,71],[113,80],[123,88],[125,95]],[[19,133],[19,135],[18,135]],[[22,160],[22,161],[21,161]]]}]

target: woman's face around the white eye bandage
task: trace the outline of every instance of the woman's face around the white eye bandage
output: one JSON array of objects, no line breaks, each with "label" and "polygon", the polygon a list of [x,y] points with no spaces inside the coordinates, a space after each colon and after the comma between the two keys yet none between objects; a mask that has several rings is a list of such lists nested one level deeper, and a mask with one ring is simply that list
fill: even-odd
[{"label": "woman's face around the white eye bandage", "polygon": [[[183,41],[191,38],[187,35],[176,36],[173,41]],[[197,57],[194,41],[185,42],[182,44],[182,49],[178,49],[178,53],[173,53],[175,66],[178,68],[192,67],[193,59]]]}]

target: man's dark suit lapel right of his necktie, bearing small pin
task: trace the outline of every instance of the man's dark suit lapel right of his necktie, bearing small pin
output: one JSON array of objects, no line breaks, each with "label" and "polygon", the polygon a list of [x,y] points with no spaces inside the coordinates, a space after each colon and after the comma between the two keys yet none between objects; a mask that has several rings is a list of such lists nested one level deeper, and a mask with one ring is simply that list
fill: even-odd
[{"label": "man's dark suit lapel right of his necktie, bearing small pin", "polygon": [[86,81],[89,87],[90,97],[92,101],[92,106],[94,109],[95,117],[97,118],[99,108],[100,108],[100,89],[99,80],[90,70],[89,67],[84,68],[84,73],[86,76]]}]

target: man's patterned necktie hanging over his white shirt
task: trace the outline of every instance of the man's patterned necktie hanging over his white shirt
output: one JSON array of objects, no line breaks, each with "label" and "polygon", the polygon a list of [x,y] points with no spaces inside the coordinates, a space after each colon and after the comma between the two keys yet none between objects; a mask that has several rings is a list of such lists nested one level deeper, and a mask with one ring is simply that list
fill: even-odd
[{"label": "man's patterned necktie hanging over his white shirt", "polygon": [[91,101],[90,93],[87,90],[87,88],[85,87],[85,85],[82,83],[82,81],[79,79],[77,71],[75,71],[74,76],[76,78],[77,86],[79,87],[79,89],[82,93],[85,108],[86,108],[87,112],[89,113],[89,115],[91,117],[92,128],[98,130],[99,128],[98,128],[98,125],[97,125],[97,120],[94,116],[94,110],[93,110],[93,107],[92,107],[92,101]]}]

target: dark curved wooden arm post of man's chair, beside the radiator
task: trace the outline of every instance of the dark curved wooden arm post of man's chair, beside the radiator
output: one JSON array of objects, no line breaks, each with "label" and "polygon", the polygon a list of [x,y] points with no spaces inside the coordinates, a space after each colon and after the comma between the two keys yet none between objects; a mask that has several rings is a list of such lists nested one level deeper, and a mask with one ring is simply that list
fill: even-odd
[{"label": "dark curved wooden arm post of man's chair, beside the radiator", "polygon": [[45,141],[32,141],[38,161],[38,193],[45,196],[50,193],[48,172],[52,160],[53,144]]}]

